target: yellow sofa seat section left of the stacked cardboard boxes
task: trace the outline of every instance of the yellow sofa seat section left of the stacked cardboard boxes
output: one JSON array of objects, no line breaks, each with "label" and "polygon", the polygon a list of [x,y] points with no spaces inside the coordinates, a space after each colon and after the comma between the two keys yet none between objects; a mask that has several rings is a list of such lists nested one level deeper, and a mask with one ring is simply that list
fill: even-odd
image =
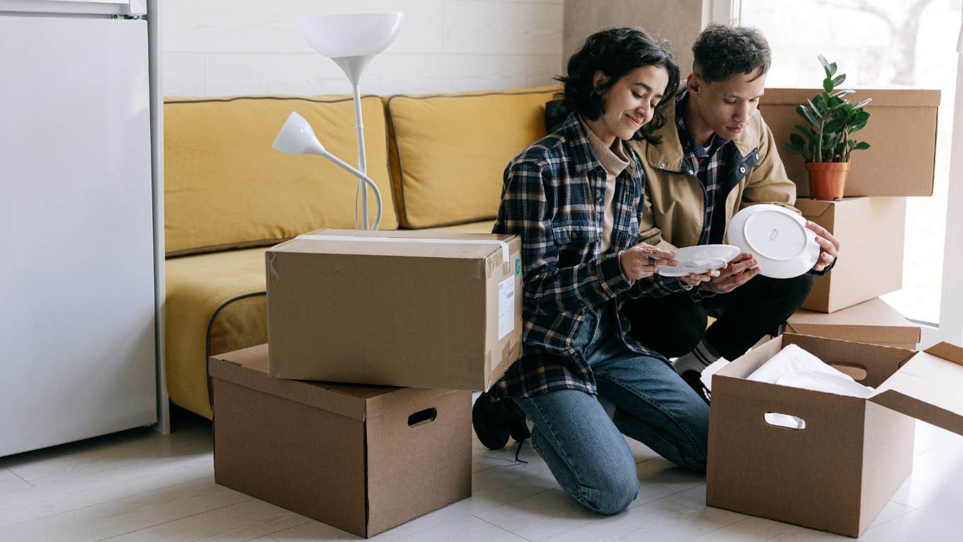
[{"label": "yellow sofa seat section left of the stacked cardboard boxes", "polygon": [[211,418],[207,357],[268,341],[267,249],[168,258],[165,358],[175,404]]}]

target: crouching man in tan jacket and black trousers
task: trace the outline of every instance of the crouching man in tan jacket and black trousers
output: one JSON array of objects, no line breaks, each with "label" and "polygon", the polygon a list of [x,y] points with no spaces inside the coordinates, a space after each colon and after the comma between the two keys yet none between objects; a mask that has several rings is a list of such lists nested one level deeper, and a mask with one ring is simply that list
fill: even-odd
[{"label": "crouching man in tan jacket and black trousers", "polygon": [[[654,134],[663,143],[630,144],[645,172],[639,240],[669,250],[724,242],[729,221],[747,205],[795,203],[795,185],[758,111],[771,58],[766,39],[755,29],[713,24],[692,52],[685,90],[674,111],[666,112],[675,122]],[[742,253],[698,288],[626,302],[622,311],[632,335],[678,357],[676,371],[708,402],[702,369],[719,358],[736,359],[774,333],[809,295],[813,277],[835,262],[840,242],[812,222],[807,228],[817,233],[821,248],[809,273],[782,280],[758,276],[755,257]],[[707,314],[716,316],[708,330]]]}]

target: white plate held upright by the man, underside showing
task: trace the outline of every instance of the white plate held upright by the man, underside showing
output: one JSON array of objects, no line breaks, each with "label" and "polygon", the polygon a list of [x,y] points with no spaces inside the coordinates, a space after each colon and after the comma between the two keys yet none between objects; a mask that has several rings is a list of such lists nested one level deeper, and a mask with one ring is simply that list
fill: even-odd
[{"label": "white plate held upright by the man, underside showing", "polygon": [[792,279],[809,271],[820,257],[816,232],[798,214],[768,203],[745,207],[729,223],[729,242],[759,261],[759,272]]}]

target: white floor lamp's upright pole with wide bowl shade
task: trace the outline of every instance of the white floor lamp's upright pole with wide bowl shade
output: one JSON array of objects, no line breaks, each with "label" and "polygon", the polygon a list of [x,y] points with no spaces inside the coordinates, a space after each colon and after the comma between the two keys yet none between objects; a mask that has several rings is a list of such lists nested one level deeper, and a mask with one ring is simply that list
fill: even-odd
[{"label": "white floor lamp's upright pole with wide bowl shade", "polygon": [[[335,14],[308,17],[300,21],[301,34],[319,53],[333,60],[351,81],[354,96],[354,128],[358,136],[358,190],[361,194],[361,229],[368,230],[368,190],[364,177],[368,164],[364,149],[364,124],[361,122],[361,73],[371,59],[395,41],[402,26],[401,13]],[[328,158],[333,156],[328,153]],[[343,162],[342,162],[343,163]],[[339,164],[340,165],[340,164]],[[371,186],[374,186],[373,184]],[[378,208],[380,195],[375,187]],[[354,199],[354,227],[358,228],[357,196]],[[377,230],[377,223],[375,225]]]}]

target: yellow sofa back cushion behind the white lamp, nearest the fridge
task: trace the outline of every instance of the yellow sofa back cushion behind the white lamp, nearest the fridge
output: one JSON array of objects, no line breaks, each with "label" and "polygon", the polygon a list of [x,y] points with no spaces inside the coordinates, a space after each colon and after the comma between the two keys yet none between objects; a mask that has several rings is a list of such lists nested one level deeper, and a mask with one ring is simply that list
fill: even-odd
[{"label": "yellow sofa back cushion behind the white lamp, nearest the fridge", "polygon": [[[322,156],[271,148],[291,111],[335,156],[357,166],[350,96],[172,98],[164,105],[168,256],[273,245],[319,228],[354,228],[355,178]],[[384,107],[362,98],[368,176],[381,191],[381,229],[394,230]],[[375,219],[374,197],[369,213]]]}]

